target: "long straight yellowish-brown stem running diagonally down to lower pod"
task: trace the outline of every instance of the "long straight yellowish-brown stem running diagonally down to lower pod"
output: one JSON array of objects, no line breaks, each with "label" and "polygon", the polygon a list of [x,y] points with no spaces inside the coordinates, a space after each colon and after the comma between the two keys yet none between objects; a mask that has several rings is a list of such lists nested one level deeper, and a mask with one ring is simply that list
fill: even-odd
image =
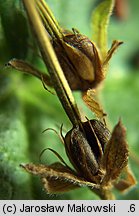
[{"label": "long straight yellowish-brown stem running diagonally down to lower pod", "polygon": [[48,68],[51,76],[53,86],[59,97],[63,108],[65,109],[72,124],[81,125],[81,117],[72,95],[71,89],[64,76],[64,73],[59,65],[58,59],[55,55],[48,33],[43,26],[41,18],[37,12],[34,0],[22,0],[26,9],[31,27],[36,36],[43,60]]}]

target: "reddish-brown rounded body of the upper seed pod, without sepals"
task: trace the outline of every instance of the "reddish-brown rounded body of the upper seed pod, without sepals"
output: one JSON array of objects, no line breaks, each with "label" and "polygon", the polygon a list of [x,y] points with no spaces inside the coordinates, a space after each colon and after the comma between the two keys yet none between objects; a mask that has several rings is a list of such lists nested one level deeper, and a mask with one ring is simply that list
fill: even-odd
[{"label": "reddish-brown rounded body of the upper seed pod, without sepals", "polygon": [[65,31],[53,47],[72,90],[94,88],[104,79],[97,48],[77,30]]}]

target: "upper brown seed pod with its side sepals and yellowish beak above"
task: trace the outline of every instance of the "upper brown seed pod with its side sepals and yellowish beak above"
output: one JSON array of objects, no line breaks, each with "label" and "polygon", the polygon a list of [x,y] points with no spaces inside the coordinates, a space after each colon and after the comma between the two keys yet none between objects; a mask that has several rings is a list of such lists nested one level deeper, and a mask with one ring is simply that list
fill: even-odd
[{"label": "upper brown seed pod with its side sepals and yellowish beak above", "polygon": [[[95,45],[76,29],[64,30],[58,24],[46,1],[36,0],[35,2],[71,90],[86,92],[88,89],[96,89],[105,79],[108,62],[122,42],[113,41],[110,50],[103,55],[97,42]],[[31,68],[27,63],[10,61],[9,65],[38,77],[46,85],[54,86],[52,77],[46,76],[45,73],[38,70],[35,71],[35,68]],[[49,68],[48,62],[46,65]]]}]

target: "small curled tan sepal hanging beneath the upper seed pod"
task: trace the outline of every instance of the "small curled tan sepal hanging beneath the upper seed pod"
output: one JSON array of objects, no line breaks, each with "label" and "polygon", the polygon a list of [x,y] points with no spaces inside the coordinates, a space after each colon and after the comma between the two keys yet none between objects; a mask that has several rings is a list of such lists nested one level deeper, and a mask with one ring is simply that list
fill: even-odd
[{"label": "small curled tan sepal hanging beneath the upper seed pod", "polygon": [[107,114],[103,111],[100,103],[96,100],[96,91],[89,89],[84,95],[83,100],[89,109],[95,113],[96,117],[103,119]]}]

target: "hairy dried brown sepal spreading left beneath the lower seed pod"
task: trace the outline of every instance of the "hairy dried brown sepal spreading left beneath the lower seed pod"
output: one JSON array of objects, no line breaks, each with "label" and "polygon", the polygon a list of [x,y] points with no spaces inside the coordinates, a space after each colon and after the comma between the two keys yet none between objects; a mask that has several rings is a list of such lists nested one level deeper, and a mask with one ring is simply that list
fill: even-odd
[{"label": "hairy dried brown sepal spreading left beneath the lower seed pod", "polygon": [[66,192],[80,186],[99,189],[99,186],[76,176],[74,171],[72,172],[61,163],[54,163],[50,166],[41,164],[22,164],[21,166],[27,172],[40,176],[48,193]]}]

